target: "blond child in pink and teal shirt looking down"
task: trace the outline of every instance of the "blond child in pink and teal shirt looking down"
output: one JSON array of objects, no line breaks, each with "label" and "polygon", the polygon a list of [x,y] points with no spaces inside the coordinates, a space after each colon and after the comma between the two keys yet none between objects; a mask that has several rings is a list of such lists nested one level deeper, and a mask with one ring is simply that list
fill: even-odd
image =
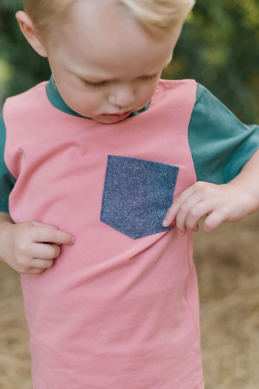
[{"label": "blond child in pink and teal shirt looking down", "polygon": [[192,231],[259,208],[259,127],[160,79],[193,0],[24,6],[52,76],[3,107],[0,256],[33,388],[204,388]]}]

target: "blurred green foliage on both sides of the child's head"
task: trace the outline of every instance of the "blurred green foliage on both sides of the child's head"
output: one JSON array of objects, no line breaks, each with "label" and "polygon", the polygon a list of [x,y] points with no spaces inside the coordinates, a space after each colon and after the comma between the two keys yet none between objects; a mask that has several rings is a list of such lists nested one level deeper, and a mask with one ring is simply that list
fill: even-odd
[{"label": "blurred green foliage on both sides of the child's head", "polygon": [[[50,77],[19,29],[19,9],[21,0],[0,0],[2,102]],[[259,122],[259,1],[197,0],[162,78],[193,78],[242,121]]]}]

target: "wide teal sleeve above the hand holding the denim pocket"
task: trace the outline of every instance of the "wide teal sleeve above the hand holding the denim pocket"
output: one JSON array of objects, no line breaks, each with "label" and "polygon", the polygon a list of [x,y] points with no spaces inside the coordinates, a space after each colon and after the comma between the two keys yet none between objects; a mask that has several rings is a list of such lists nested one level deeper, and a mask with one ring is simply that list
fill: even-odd
[{"label": "wide teal sleeve above the hand holding the denim pocket", "polygon": [[259,126],[243,124],[198,84],[188,140],[197,181],[225,184],[259,149]]}]

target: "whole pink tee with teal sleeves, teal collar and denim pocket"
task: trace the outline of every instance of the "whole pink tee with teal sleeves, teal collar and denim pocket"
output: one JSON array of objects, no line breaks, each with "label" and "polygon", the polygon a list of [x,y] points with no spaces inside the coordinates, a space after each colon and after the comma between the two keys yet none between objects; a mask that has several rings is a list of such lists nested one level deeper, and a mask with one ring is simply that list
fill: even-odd
[{"label": "whole pink tee with teal sleeves, teal collar and denim pocket", "polygon": [[1,210],[76,238],[21,274],[33,388],[204,388],[193,235],[162,221],[196,180],[233,179],[259,127],[194,80],[160,80],[141,111],[103,124],[51,78],[8,98],[0,129]]}]

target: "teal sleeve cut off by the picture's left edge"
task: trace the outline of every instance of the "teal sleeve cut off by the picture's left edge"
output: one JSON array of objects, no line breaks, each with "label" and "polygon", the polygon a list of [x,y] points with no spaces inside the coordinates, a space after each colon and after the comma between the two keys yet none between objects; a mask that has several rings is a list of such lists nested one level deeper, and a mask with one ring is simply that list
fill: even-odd
[{"label": "teal sleeve cut off by the picture's left edge", "polygon": [[16,179],[9,172],[3,154],[5,151],[6,129],[3,121],[3,113],[0,118],[0,211],[9,212],[9,195],[16,183]]}]

